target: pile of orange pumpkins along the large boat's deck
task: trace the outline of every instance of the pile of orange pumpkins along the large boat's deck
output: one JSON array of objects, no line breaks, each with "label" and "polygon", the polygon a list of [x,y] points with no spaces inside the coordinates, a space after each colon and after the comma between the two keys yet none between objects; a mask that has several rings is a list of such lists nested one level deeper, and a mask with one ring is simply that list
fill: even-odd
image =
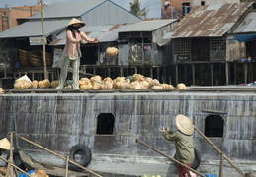
[{"label": "pile of orange pumpkins along the large boat's deck", "polygon": [[[56,88],[58,81],[50,82],[48,79],[43,81],[30,81],[26,77],[17,79],[14,83],[15,89],[49,89]],[[72,81],[65,82],[66,89],[72,88]],[[117,77],[112,79],[110,77],[102,78],[101,76],[93,76],[91,78],[81,78],[79,80],[80,89],[175,89],[172,85],[161,84],[157,79],[144,77],[141,74],[134,74],[128,77]],[[185,84],[180,83],[177,89],[186,89]]]}]

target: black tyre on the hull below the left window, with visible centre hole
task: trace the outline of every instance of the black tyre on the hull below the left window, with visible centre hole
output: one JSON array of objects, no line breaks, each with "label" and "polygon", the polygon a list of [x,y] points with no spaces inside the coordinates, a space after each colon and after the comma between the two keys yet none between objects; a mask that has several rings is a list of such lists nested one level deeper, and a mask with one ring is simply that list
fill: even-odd
[{"label": "black tyre on the hull below the left window, with visible centre hole", "polygon": [[[70,160],[78,163],[81,166],[88,166],[92,159],[92,151],[90,148],[86,147],[83,144],[75,145],[69,150]],[[70,163],[70,167],[73,169],[79,169],[78,166]]]}]

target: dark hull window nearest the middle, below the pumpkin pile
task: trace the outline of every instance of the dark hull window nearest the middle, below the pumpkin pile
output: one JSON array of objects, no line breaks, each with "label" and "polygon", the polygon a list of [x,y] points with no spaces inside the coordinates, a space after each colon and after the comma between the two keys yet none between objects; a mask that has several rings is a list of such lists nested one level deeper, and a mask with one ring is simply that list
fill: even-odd
[{"label": "dark hull window nearest the middle, below the pumpkin pile", "polygon": [[112,113],[101,113],[97,117],[96,134],[113,135],[115,117]]}]

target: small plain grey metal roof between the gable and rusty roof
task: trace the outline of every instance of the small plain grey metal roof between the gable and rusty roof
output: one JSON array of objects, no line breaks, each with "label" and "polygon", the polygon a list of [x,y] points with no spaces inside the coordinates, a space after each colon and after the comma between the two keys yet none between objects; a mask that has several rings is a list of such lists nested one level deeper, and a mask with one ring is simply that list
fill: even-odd
[{"label": "small plain grey metal roof between the gable and rusty roof", "polygon": [[170,20],[154,20],[154,21],[141,21],[121,29],[120,32],[133,32],[133,31],[153,31],[160,29],[168,24],[178,21],[177,19]]}]

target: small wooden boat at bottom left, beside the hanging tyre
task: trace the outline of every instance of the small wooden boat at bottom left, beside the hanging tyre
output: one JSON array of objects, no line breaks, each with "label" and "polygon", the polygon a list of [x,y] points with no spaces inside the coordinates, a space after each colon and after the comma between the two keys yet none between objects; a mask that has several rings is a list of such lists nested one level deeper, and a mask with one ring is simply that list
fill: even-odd
[{"label": "small wooden boat at bottom left, beside the hanging tyre", "polygon": [[[21,160],[25,167],[30,171],[30,170],[35,170],[35,169],[40,169],[44,170],[50,177],[61,177],[66,175],[66,169],[64,167],[55,165],[55,164],[50,164],[47,162],[42,162],[42,161],[36,161],[33,159],[30,155],[25,153],[23,150],[19,151]],[[73,171],[73,170],[68,170],[68,176],[72,177],[88,177],[87,172],[81,172],[81,171]]]}]

